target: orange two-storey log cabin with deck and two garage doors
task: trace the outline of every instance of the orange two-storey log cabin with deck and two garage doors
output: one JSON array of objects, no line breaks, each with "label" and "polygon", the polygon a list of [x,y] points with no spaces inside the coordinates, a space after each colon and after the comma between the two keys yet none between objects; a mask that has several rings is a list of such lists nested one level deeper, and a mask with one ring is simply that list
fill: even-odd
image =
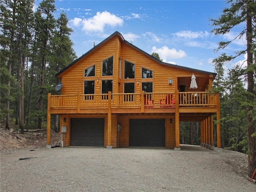
[{"label": "orange two-storey log cabin with deck and two garage doors", "polygon": [[179,148],[181,121],[201,122],[201,143],[213,145],[215,73],[162,62],[114,32],[56,76],[62,89],[48,94],[48,145],[51,114],[60,115],[64,146]]}]

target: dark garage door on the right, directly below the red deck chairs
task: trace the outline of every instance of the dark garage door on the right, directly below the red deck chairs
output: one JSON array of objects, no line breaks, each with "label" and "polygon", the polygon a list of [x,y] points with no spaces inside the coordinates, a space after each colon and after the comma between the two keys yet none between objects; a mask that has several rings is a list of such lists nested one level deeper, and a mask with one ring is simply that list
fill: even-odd
[{"label": "dark garage door on the right, directly below the red deck chairs", "polygon": [[165,147],[165,120],[130,119],[130,146]]}]

